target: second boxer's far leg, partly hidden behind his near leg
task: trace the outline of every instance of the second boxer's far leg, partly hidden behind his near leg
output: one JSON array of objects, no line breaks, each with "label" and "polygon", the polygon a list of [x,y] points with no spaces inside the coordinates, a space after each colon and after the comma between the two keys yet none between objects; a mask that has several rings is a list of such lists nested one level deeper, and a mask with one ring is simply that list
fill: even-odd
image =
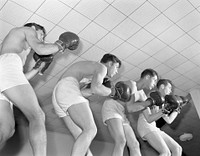
[{"label": "second boxer's far leg, partly hidden behind his near leg", "polygon": [[[64,120],[65,125],[67,126],[67,128],[69,129],[69,131],[71,132],[71,134],[73,135],[74,139],[76,140],[79,135],[82,133],[82,130],[79,126],[77,126],[72,119],[70,118],[70,116],[65,116],[62,118]],[[90,149],[88,149],[86,156],[93,156],[92,152],[90,151]]]}]

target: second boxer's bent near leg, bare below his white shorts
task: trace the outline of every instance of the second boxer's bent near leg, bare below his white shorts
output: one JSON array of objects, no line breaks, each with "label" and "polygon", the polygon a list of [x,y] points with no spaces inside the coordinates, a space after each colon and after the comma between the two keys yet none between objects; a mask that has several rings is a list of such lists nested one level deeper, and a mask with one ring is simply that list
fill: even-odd
[{"label": "second boxer's bent near leg, bare below his white shorts", "polygon": [[73,122],[82,129],[75,140],[71,156],[84,156],[97,133],[92,111],[88,103],[80,103],[69,107],[68,113]]}]

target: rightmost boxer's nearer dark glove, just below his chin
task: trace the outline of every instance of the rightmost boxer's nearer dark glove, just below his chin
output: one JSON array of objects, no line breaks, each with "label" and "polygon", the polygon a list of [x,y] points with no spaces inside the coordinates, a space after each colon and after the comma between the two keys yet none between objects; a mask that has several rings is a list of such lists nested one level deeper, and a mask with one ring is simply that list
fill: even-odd
[{"label": "rightmost boxer's nearer dark glove, just below his chin", "polygon": [[176,95],[166,95],[164,109],[168,112],[180,111],[181,98]]}]

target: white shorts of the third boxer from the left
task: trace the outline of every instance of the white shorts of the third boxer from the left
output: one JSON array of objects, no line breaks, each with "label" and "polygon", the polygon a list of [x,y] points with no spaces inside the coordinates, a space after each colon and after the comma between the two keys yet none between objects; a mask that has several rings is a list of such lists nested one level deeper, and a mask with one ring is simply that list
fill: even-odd
[{"label": "white shorts of the third boxer from the left", "polygon": [[106,125],[106,120],[109,119],[121,119],[123,124],[129,124],[129,120],[125,115],[124,106],[113,99],[106,99],[102,107],[102,119]]}]

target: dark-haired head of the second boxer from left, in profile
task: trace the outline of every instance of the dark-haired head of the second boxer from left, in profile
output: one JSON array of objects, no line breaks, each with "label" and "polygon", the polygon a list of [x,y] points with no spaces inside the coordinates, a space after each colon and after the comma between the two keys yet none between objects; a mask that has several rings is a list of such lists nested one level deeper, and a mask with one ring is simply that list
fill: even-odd
[{"label": "dark-haired head of the second boxer from left, in profile", "polygon": [[105,54],[100,60],[100,62],[107,67],[108,77],[113,77],[115,74],[117,74],[118,69],[121,67],[121,61],[115,55],[112,54]]}]

